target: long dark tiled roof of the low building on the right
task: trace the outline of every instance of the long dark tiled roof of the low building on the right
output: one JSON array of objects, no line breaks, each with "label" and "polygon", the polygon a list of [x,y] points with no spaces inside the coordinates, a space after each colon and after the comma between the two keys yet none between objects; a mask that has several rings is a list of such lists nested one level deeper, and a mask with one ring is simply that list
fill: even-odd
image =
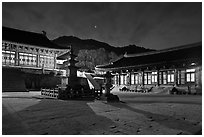
[{"label": "long dark tiled roof of the low building on the right", "polygon": [[97,66],[98,69],[116,69],[148,66],[151,64],[172,63],[180,60],[200,60],[202,62],[202,42],[171,49],[125,56],[109,65]]}]

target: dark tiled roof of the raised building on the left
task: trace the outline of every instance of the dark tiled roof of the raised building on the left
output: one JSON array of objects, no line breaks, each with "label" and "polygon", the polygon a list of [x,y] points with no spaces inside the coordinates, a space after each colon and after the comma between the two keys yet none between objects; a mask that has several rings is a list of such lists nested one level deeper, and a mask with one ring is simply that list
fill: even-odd
[{"label": "dark tiled roof of the raised building on the left", "polygon": [[2,40],[45,48],[64,49],[52,43],[43,33],[34,33],[4,26],[2,27]]}]

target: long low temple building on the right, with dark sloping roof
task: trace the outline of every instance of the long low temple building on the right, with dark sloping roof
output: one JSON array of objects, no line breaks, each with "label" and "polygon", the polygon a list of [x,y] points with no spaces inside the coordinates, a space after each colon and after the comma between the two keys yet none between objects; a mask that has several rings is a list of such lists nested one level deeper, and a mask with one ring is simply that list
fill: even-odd
[{"label": "long low temple building on the right, with dark sloping roof", "polygon": [[108,65],[116,87],[147,89],[177,87],[186,92],[202,91],[202,42],[142,54],[125,54]]}]

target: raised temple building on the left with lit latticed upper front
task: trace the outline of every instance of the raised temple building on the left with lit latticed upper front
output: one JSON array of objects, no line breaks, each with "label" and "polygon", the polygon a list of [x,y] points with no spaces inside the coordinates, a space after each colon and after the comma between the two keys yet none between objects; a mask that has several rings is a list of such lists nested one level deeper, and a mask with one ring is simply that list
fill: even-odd
[{"label": "raised temple building on the left with lit latticed upper front", "polygon": [[40,89],[42,79],[60,73],[57,57],[68,51],[52,43],[44,31],[2,27],[2,91]]}]

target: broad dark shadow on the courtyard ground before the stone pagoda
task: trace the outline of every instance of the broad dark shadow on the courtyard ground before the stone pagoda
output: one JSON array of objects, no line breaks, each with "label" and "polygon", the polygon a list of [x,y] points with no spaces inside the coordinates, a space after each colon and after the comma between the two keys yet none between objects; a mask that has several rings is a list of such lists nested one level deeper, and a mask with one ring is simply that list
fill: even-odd
[{"label": "broad dark shadow on the courtyard ground before the stone pagoda", "polygon": [[7,110],[3,108],[3,134],[111,134],[108,128],[113,122],[96,115],[87,105],[88,102],[90,101],[43,99],[36,105],[12,114],[17,115],[18,118],[5,112]]}]

